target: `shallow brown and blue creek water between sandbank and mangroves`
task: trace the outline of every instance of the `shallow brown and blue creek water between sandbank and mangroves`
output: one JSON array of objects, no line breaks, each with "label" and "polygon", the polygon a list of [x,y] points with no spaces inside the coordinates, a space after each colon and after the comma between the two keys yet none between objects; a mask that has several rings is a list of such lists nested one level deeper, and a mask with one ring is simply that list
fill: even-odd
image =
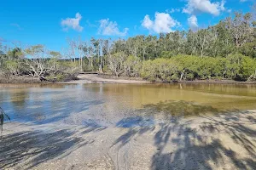
[{"label": "shallow brown and blue creek water between sandbank and mangroves", "polygon": [[173,116],[256,109],[255,85],[2,84],[0,105],[18,122],[150,126]]}]

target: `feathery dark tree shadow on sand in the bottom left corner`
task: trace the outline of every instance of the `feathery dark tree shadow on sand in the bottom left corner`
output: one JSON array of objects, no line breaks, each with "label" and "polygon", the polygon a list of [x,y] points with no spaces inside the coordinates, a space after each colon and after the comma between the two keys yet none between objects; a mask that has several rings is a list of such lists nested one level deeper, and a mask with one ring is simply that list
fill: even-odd
[{"label": "feathery dark tree shadow on sand in the bottom left corner", "polygon": [[94,142],[72,135],[73,132],[66,129],[54,133],[25,131],[3,135],[0,139],[0,169],[16,166],[30,169],[43,161],[67,156],[73,150]]}]

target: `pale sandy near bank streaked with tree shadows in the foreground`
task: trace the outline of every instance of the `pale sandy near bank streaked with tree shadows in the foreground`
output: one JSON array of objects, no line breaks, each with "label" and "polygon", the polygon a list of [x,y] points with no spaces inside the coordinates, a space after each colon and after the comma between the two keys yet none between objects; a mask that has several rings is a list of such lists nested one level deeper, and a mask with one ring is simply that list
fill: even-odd
[{"label": "pale sandy near bank streaked with tree shadows in the foreground", "polygon": [[154,126],[7,122],[1,169],[256,169],[256,111]]}]

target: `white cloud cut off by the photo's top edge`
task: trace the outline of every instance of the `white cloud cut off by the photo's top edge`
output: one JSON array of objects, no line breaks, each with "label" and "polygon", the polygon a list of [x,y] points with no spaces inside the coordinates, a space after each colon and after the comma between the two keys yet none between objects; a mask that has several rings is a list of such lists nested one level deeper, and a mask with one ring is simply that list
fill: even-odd
[{"label": "white cloud cut off by the photo's top edge", "polygon": [[208,13],[218,16],[224,11],[225,1],[211,2],[211,0],[188,0],[188,4],[183,8],[183,13],[196,14],[198,12]]}]

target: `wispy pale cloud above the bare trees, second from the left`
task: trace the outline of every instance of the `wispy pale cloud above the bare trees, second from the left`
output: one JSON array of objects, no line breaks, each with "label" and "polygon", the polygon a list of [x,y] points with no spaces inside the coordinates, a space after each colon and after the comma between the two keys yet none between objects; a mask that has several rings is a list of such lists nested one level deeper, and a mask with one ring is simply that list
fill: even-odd
[{"label": "wispy pale cloud above the bare trees, second from the left", "polygon": [[125,28],[124,31],[119,31],[118,24],[109,19],[100,20],[100,24],[98,33],[104,36],[126,36],[129,30]]}]

